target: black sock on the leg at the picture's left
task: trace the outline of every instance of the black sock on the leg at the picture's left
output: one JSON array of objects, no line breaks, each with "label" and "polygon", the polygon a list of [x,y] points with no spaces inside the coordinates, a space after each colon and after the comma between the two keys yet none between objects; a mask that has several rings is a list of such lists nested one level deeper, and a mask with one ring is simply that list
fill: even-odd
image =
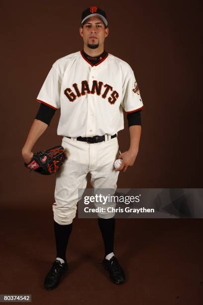
[{"label": "black sock on the leg at the picture's left", "polygon": [[54,220],[54,233],[56,239],[56,257],[62,258],[66,262],[66,248],[69,236],[72,231],[73,223],[69,225],[60,225]]}]

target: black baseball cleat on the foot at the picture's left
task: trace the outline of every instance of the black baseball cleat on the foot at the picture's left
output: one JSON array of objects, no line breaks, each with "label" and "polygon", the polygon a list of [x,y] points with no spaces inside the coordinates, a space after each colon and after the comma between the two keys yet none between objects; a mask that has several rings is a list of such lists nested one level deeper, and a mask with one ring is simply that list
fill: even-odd
[{"label": "black baseball cleat on the foot at the picture's left", "polygon": [[56,260],[44,279],[44,288],[48,290],[56,288],[60,283],[62,275],[64,275],[67,270],[68,264],[66,262],[62,264],[60,261]]}]

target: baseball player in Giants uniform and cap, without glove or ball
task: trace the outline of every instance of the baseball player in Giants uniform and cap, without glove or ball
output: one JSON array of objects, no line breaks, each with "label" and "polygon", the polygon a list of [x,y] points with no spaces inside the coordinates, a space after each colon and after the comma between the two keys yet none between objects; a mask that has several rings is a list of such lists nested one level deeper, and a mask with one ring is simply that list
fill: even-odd
[{"label": "baseball player in Giants uniform and cap, without glove or ball", "polygon": [[[138,153],[143,103],[129,64],[104,50],[108,32],[102,9],[91,6],[83,11],[83,50],[53,63],[37,96],[39,110],[22,148],[28,163],[34,144],[60,109],[57,134],[63,136],[67,159],[56,172],[52,205],[56,260],[44,280],[44,287],[49,290],[58,286],[68,270],[66,249],[80,200],[78,189],[86,188],[88,172],[94,189],[112,189],[113,194],[119,172],[132,166]],[[127,113],[130,147],[119,153],[117,133],[124,128],[123,110]],[[118,158],[122,164],[115,169],[114,161]],[[114,216],[113,212],[98,213],[104,243],[102,266],[113,283],[122,284],[125,274],[113,250]]]}]

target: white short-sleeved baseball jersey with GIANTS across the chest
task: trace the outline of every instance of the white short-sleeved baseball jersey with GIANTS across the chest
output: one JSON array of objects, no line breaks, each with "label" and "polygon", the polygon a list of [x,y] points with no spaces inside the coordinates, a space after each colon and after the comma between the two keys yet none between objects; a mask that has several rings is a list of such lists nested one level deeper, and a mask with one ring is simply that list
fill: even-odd
[{"label": "white short-sleeved baseball jersey with GIANTS across the chest", "polygon": [[61,109],[57,134],[67,137],[114,135],[126,113],[143,107],[133,70],[107,53],[92,66],[81,51],[52,65],[37,101]]}]

